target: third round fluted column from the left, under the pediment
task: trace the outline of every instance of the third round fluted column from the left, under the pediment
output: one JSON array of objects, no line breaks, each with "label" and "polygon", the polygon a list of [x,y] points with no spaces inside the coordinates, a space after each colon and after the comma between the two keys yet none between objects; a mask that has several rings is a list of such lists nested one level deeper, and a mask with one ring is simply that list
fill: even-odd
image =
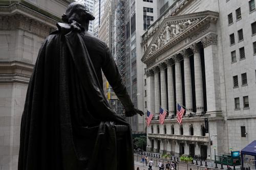
[{"label": "third round fluted column from the left, under the pediment", "polygon": [[175,101],[174,101],[174,77],[173,77],[173,66],[174,60],[173,59],[167,59],[166,60],[167,65],[167,93],[168,93],[168,110],[169,115],[174,114],[175,110]]}]

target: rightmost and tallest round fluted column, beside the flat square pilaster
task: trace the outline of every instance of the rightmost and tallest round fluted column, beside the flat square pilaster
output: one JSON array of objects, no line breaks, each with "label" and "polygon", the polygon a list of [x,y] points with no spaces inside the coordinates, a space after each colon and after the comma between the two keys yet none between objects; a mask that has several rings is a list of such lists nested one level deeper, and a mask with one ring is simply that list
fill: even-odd
[{"label": "rightmost and tallest round fluted column, beside the flat square pilaster", "polygon": [[194,67],[195,67],[195,91],[196,91],[196,109],[197,113],[204,111],[204,98],[203,98],[203,76],[202,65],[200,56],[200,46],[194,43],[190,46],[194,53]]}]

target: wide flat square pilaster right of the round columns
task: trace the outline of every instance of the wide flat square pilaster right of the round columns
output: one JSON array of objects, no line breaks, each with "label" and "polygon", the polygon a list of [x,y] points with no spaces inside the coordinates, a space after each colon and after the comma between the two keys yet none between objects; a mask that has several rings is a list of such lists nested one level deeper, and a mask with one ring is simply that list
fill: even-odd
[{"label": "wide flat square pilaster right of the round columns", "polygon": [[[221,112],[221,92],[217,35],[209,34],[202,40],[204,47],[207,112]],[[224,66],[222,66],[224,67]],[[218,112],[217,112],[218,113]]]}]

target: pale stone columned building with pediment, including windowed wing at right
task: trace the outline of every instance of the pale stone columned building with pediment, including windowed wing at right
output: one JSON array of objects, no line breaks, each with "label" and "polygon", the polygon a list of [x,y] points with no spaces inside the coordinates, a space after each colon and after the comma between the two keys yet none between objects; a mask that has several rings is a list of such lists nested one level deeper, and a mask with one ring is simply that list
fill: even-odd
[{"label": "pale stone columned building with pediment, including windowed wing at right", "polygon": [[[211,156],[256,138],[254,1],[176,1],[142,35],[147,151]],[[186,113],[176,119],[177,104]],[[159,108],[168,114],[159,124]],[[206,133],[205,118],[208,118]]]}]

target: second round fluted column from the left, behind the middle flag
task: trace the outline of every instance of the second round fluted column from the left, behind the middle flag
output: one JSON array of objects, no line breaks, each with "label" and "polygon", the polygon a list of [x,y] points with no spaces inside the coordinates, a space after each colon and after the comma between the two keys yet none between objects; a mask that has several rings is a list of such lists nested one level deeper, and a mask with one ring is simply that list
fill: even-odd
[{"label": "second round fluted column from the left, behind the middle flag", "polygon": [[166,80],[165,80],[165,63],[160,63],[160,85],[161,85],[161,107],[167,110],[167,91],[166,91]]}]

